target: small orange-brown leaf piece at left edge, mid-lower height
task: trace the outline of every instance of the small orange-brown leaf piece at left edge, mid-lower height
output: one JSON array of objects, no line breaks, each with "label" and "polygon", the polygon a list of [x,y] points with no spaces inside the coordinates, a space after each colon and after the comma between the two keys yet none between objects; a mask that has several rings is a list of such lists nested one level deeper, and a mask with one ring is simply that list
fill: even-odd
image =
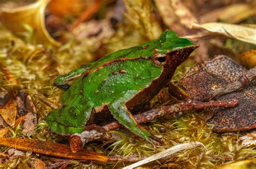
[{"label": "small orange-brown leaf piece at left edge, mid-lower height", "polygon": [[12,100],[5,105],[4,108],[0,109],[0,115],[9,126],[14,126],[15,118],[17,114],[17,103]]}]

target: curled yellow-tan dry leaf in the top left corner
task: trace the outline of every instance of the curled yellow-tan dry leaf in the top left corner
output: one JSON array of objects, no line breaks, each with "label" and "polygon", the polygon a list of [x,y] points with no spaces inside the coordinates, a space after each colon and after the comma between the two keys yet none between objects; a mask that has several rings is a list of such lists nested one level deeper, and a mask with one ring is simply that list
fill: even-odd
[{"label": "curled yellow-tan dry leaf in the top left corner", "polygon": [[54,40],[45,28],[45,8],[49,2],[49,0],[39,0],[19,8],[2,9],[2,22],[16,36],[21,36],[30,29],[30,26],[37,43],[60,46],[60,43]]}]

